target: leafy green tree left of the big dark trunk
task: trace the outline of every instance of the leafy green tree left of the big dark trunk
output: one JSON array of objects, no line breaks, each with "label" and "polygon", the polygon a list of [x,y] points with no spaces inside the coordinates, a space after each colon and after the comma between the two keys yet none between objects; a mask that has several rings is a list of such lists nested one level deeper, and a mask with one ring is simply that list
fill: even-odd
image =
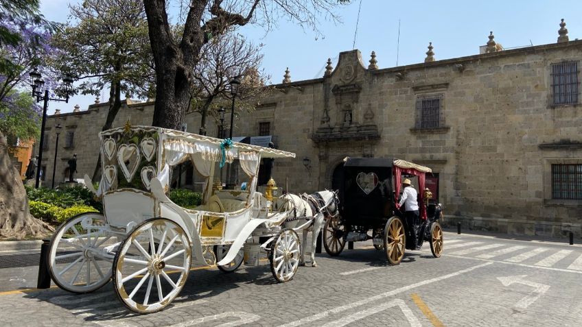
[{"label": "leafy green tree left of the big dark trunk", "polygon": [[[148,22],[141,1],[84,0],[70,7],[67,24],[53,44],[54,62],[77,76],[76,92],[100,95],[109,88],[109,108],[102,130],[112,128],[121,95],[145,99],[154,95],[154,67]],[[66,66],[65,66],[66,64]],[[98,178],[101,158],[93,180]]]}]

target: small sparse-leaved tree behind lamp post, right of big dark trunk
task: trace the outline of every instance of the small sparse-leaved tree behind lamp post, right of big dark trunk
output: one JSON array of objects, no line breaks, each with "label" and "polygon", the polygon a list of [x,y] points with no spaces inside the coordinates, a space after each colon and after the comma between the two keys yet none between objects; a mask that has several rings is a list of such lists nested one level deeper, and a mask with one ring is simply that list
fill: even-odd
[{"label": "small sparse-leaved tree behind lamp post, right of big dark trunk", "polygon": [[252,110],[268,92],[265,86],[268,76],[259,68],[263,60],[259,50],[259,46],[248,43],[234,32],[213,38],[202,48],[192,88],[192,108],[201,116],[200,134],[206,135],[208,115],[218,119],[218,108],[230,108],[231,81],[235,77],[242,77],[237,90],[238,110]]}]

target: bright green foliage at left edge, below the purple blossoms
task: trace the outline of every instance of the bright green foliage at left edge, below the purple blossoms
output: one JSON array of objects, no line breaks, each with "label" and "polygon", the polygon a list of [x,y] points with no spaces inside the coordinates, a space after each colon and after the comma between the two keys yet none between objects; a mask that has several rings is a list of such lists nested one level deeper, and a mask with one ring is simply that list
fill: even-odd
[{"label": "bright green foliage at left edge, below the purple blossoms", "polygon": [[10,92],[10,102],[0,102],[0,132],[7,138],[21,140],[40,136],[40,115],[30,93]]}]

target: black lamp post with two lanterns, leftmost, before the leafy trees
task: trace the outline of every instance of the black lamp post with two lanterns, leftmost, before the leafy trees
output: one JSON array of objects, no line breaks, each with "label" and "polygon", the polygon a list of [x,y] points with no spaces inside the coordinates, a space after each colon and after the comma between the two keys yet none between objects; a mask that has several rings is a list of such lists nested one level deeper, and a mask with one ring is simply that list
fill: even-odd
[{"label": "black lamp post with two lanterns, leftmost, before the leafy trees", "polygon": [[[32,96],[36,97],[36,102],[44,101],[43,104],[43,121],[40,125],[40,142],[38,143],[38,169],[36,169],[36,182],[34,187],[38,189],[38,184],[40,182],[40,169],[43,167],[43,145],[45,144],[45,123],[47,121],[47,109],[49,108],[49,101],[63,101],[69,103],[69,94],[73,89],[73,77],[71,75],[66,75],[62,79],[62,86],[65,90],[65,99],[50,98],[49,90],[45,90],[45,81],[43,77],[38,73],[36,68],[30,72],[30,86],[32,86]],[[45,91],[43,94],[43,90]],[[55,156],[56,158],[56,156]],[[45,172],[46,173],[46,172]]]}]

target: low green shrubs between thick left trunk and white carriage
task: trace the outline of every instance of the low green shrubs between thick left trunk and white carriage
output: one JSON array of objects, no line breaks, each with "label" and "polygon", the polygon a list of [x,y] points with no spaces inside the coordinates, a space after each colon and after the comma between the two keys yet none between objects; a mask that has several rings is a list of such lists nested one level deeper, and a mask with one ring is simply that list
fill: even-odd
[{"label": "low green shrubs between thick left trunk and white carriage", "polygon": [[[34,189],[30,186],[25,187],[30,202],[45,202],[59,208],[69,208],[71,206],[79,205],[91,206],[100,213],[103,212],[103,204],[95,200],[93,193],[82,185],[66,187],[58,190],[45,189],[43,187],[39,189]],[[32,215],[34,216],[34,214]]]}]

